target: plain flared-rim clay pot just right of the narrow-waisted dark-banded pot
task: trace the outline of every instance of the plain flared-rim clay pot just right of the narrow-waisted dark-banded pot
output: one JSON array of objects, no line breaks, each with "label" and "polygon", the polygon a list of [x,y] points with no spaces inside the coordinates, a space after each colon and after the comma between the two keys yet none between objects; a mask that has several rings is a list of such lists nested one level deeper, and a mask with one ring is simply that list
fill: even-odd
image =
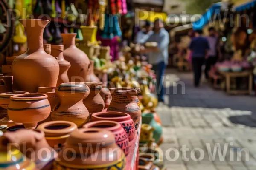
[{"label": "plain flared-rim clay pot just right of the narrow-waisted dark-banded pot", "polygon": [[101,112],[104,109],[104,100],[99,92],[102,89],[102,82],[84,82],[90,88],[90,94],[83,100],[90,115]]}]

